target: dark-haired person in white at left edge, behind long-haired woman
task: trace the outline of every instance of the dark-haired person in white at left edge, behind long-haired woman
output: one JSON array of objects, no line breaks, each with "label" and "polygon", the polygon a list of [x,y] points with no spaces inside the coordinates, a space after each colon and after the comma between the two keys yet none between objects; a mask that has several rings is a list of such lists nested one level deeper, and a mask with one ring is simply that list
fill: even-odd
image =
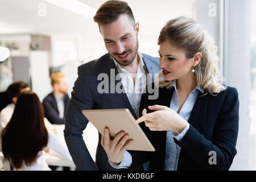
[{"label": "dark-haired person in white at left edge, behind long-haired woman", "polygon": [[[18,96],[20,93],[30,90],[28,84],[24,81],[14,82],[9,85],[6,92],[10,96],[13,101],[11,104],[7,105],[0,112],[0,135],[2,133],[3,128],[7,125],[7,123],[11,119],[11,115],[13,115],[14,107],[17,102]],[[1,139],[0,139],[0,151],[1,151]]]}]

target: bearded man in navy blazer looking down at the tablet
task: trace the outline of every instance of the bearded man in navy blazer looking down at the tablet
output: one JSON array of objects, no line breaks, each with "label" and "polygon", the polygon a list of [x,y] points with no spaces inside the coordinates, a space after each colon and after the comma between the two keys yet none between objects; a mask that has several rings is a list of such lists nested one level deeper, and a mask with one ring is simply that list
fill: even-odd
[{"label": "bearded man in navy blazer looking down at the tablet", "polygon": [[[105,2],[93,19],[98,23],[108,53],[78,68],[78,78],[65,115],[64,136],[78,170],[123,170],[110,165],[101,146],[100,133],[94,163],[82,139],[82,132],[88,124],[82,110],[127,108],[134,118],[138,118],[139,102],[146,88],[142,77],[146,73],[158,73],[159,61],[138,51],[139,23],[135,22],[126,2]],[[107,84],[100,86],[102,82]],[[122,92],[117,88],[121,88]],[[142,166],[131,168],[141,169]]]}]

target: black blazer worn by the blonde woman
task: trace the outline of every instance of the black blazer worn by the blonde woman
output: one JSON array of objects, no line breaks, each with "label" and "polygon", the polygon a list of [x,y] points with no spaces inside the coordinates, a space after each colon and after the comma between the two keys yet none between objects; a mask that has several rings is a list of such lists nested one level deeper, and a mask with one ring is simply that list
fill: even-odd
[{"label": "black blazer worn by the blonde woman", "polygon": [[[141,99],[140,114],[147,106],[164,105],[170,107],[174,89],[159,88],[157,100],[148,100],[148,93],[144,93]],[[191,115],[188,119],[189,130],[178,142],[181,147],[177,170],[228,170],[237,154],[236,143],[238,135],[239,101],[236,88],[229,87],[226,90],[214,94],[199,92]],[[141,114],[142,115],[142,114]],[[155,152],[139,154],[131,152],[133,165],[150,160],[148,170],[164,170],[166,157],[166,131],[150,131],[142,122],[141,127]],[[216,152],[217,164],[209,164],[212,154]]]}]

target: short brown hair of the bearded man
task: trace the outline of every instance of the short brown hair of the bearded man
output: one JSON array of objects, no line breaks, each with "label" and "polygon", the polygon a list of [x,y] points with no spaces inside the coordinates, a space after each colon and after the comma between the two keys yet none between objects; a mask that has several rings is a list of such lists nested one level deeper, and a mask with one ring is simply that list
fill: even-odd
[{"label": "short brown hair of the bearded man", "polygon": [[135,19],[133,11],[124,1],[110,0],[105,2],[96,12],[93,17],[94,22],[98,23],[98,26],[112,23],[118,19],[119,15],[127,14],[131,20],[131,23],[135,27]]}]

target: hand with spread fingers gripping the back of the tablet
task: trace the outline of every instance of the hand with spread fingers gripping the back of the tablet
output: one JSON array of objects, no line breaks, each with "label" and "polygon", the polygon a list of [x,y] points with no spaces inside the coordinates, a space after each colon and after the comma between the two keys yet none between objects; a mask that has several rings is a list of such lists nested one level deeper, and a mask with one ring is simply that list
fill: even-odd
[{"label": "hand with spread fingers gripping the back of the tablet", "polygon": [[104,136],[101,135],[101,145],[106,151],[110,162],[121,163],[123,160],[123,152],[130,146],[133,140],[127,141],[129,134],[120,131],[115,135],[113,140],[110,140],[109,129],[106,127]]}]

